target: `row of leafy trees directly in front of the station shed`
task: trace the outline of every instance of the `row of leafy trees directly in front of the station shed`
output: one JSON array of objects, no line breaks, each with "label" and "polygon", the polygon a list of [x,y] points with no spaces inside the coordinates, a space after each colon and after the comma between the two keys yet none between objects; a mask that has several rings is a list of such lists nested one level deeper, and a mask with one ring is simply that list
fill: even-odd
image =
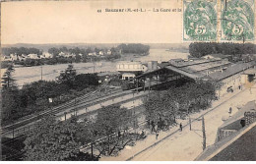
[{"label": "row of leafy trees directly in front of the station shed", "polygon": [[216,99],[217,88],[211,82],[192,82],[153,92],[144,100],[146,118],[153,127],[165,129],[176,123],[176,117],[207,109]]}]

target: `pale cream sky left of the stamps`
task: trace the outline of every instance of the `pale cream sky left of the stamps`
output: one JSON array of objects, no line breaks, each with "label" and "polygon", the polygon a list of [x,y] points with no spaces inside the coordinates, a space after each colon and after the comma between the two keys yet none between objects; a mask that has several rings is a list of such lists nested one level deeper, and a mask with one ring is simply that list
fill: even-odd
[{"label": "pale cream sky left of the stamps", "polygon": [[[154,8],[181,8],[181,0],[17,1],[1,5],[2,44],[182,40],[181,12],[153,12]],[[106,13],[106,8],[151,11]]]}]

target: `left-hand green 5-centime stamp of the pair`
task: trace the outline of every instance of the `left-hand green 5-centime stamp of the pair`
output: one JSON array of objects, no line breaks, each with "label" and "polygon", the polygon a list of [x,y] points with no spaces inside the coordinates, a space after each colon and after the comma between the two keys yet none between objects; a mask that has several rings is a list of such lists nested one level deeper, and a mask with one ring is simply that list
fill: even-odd
[{"label": "left-hand green 5-centime stamp of the pair", "polygon": [[217,40],[217,0],[183,1],[183,40]]}]

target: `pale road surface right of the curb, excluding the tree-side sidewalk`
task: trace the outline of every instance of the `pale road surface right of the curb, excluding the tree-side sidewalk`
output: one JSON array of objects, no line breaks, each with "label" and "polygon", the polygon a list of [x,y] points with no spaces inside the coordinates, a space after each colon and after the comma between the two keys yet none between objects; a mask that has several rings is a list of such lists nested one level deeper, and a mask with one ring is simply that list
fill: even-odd
[{"label": "pale road surface right of the curb, excluding the tree-side sidewalk", "polygon": [[[235,106],[240,103],[245,104],[248,101],[256,99],[256,89],[250,94],[245,90],[226,101],[215,110],[205,115],[207,145],[215,143],[217,130],[224,123],[222,119],[228,117],[228,109],[232,106],[233,113],[237,111]],[[246,97],[246,98],[245,98]],[[186,127],[182,132],[168,137],[157,146],[141,153],[132,160],[135,161],[190,161],[194,160],[202,152],[202,122],[195,121],[192,124],[192,131]]]}]

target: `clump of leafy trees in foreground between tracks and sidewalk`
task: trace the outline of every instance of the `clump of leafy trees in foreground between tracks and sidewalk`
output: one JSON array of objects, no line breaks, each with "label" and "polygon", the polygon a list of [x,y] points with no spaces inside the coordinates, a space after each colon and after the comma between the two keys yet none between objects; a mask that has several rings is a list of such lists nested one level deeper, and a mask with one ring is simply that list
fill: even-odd
[{"label": "clump of leafy trees in foreground between tracks and sidewalk", "polygon": [[[101,154],[111,155],[117,146],[124,146],[130,140],[121,137],[120,131],[131,126],[131,117],[130,110],[118,105],[102,107],[94,121],[78,122],[72,117],[56,122],[52,116],[45,117],[25,140],[24,160],[98,160]],[[113,134],[116,136],[112,137]],[[104,139],[96,142],[98,138]],[[82,152],[81,146],[87,144],[98,153]]]}]

